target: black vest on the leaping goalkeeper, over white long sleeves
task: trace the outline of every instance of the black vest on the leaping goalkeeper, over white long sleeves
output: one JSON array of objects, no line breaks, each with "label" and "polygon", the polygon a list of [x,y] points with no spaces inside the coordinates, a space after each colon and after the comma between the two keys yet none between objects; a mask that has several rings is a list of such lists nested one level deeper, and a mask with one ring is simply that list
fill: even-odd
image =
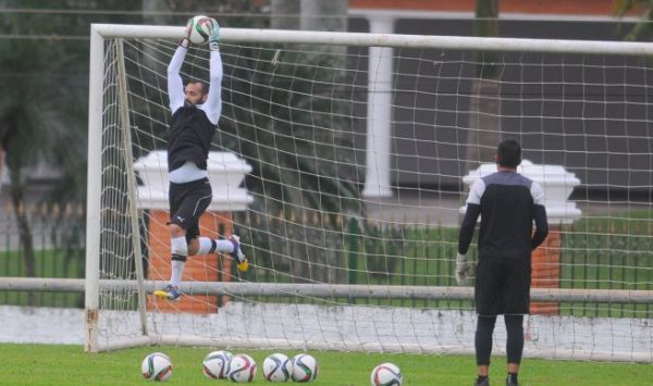
[{"label": "black vest on the leaping goalkeeper, over white long sleeves", "polygon": [[168,171],[174,171],[187,161],[207,170],[209,146],[215,125],[195,105],[178,108],[173,114],[168,132]]}]

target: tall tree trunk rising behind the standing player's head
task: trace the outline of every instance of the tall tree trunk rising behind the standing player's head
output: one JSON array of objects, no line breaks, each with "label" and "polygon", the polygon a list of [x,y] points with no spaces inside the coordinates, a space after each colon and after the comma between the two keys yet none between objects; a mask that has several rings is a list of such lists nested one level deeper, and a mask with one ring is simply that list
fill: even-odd
[{"label": "tall tree trunk rising behind the standing player's head", "polygon": [[[473,35],[498,36],[498,0],[477,0]],[[500,82],[497,53],[475,52],[477,77],[471,85],[469,130],[467,137],[467,169],[494,159],[494,148],[501,140]]]}]

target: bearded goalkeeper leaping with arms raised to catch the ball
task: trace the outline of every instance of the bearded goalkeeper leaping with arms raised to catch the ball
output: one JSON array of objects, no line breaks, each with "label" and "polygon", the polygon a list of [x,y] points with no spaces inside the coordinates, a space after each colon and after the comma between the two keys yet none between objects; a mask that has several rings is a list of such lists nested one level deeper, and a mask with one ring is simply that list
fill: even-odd
[{"label": "bearded goalkeeper leaping with arms raised to catch the ball", "polygon": [[189,80],[183,86],[180,70],[190,41],[180,42],[168,66],[168,94],[172,117],[168,133],[168,171],[170,174],[170,246],[172,274],[165,289],[155,291],[162,299],[178,300],[178,289],[188,256],[213,252],[229,253],[239,271],[248,262],[241,250],[238,236],[226,240],[199,237],[199,217],[211,202],[211,185],[207,172],[209,145],[222,110],[222,59],[219,50],[220,26],[211,18],[209,35],[210,85]]}]

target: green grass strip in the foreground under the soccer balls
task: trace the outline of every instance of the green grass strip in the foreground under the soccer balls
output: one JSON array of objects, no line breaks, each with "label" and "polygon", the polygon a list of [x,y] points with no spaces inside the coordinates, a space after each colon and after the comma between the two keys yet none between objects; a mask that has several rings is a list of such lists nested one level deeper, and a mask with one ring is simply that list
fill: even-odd
[{"label": "green grass strip in the foreground under the soccer balls", "polygon": [[[103,353],[85,353],[81,346],[0,345],[0,385],[143,385],[140,361],[153,351],[172,358],[174,371],[171,385],[231,384],[212,381],[201,373],[201,360],[209,348],[145,347]],[[258,363],[252,384],[267,384],[260,365],[272,351],[231,350],[246,352]],[[293,356],[297,352],[285,351]],[[404,385],[472,385],[472,357],[417,356],[381,353],[311,352],[320,364],[315,384],[333,386],[369,385],[374,365],[394,362],[402,369]],[[504,358],[493,358],[493,385],[504,384]],[[653,365],[631,363],[596,363],[545,361],[527,359],[519,375],[527,385],[646,385],[653,379]]]}]

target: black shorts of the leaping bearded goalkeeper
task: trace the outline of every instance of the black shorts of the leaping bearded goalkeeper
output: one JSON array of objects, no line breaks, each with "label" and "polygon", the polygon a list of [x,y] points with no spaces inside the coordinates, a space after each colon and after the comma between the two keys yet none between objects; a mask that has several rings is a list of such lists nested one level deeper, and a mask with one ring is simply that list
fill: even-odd
[{"label": "black shorts of the leaping bearded goalkeeper", "polygon": [[170,183],[170,222],[186,231],[186,240],[199,236],[199,217],[211,203],[211,184],[208,178],[185,184]]}]

